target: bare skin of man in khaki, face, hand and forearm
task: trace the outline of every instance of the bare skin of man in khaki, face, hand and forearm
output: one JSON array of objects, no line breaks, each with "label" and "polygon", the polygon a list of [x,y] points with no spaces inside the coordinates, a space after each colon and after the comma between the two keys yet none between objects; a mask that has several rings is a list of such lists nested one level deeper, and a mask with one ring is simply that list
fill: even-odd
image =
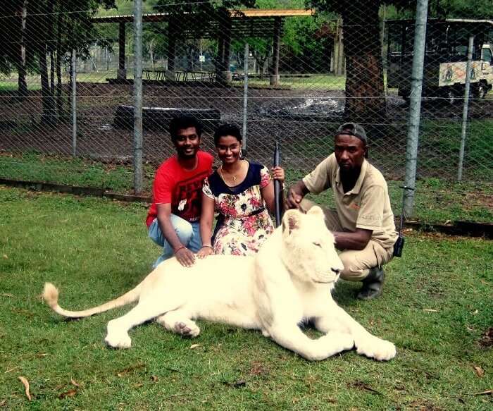
[{"label": "bare skin of man in khaki, face, hand and forearm", "polygon": [[[361,165],[365,159],[368,147],[354,135],[339,134],[334,141],[334,152],[337,164],[340,169],[340,178],[344,192],[349,192],[354,188]],[[299,204],[303,197],[309,192],[303,180],[299,180],[287,192],[285,201],[286,209],[299,209]],[[335,246],[339,250],[363,250],[370,241],[372,230],[356,228],[354,232],[334,231]]]}]

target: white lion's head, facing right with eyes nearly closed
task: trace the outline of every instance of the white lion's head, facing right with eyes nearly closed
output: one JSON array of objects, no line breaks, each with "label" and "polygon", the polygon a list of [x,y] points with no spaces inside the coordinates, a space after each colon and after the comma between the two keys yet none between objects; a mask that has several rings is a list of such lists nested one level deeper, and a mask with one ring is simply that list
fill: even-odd
[{"label": "white lion's head, facing right with eyes nearly closed", "polygon": [[310,283],[335,283],[344,269],[320,207],[307,214],[286,211],[282,219],[282,260],[293,276]]}]

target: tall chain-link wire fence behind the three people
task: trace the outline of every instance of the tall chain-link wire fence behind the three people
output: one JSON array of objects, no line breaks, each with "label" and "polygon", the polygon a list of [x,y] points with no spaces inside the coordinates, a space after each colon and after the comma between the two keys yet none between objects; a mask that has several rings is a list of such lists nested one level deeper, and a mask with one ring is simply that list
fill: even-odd
[{"label": "tall chain-link wire fence behind the three people", "polygon": [[[355,121],[370,161],[397,181],[399,204],[417,90],[416,3],[148,0],[140,28],[133,3],[0,6],[0,178],[132,191],[140,99],[144,192],[174,153],[167,127],[176,114],[201,118],[210,152],[225,121],[246,130],[249,159],[271,164],[277,140],[292,180],[332,152],[340,123]],[[480,4],[478,20],[428,10],[422,44],[416,202],[444,207],[443,219],[467,210],[492,220],[493,6]]]}]

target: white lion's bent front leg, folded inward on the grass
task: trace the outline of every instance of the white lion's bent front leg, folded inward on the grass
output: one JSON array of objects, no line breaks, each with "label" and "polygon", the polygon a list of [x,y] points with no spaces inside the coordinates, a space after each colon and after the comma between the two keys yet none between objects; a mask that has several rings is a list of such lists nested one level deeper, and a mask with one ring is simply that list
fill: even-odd
[{"label": "white lion's bent front leg, folded inward on the grass", "polygon": [[311,361],[325,360],[339,352],[350,350],[354,346],[353,338],[349,334],[345,336],[341,334],[341,338],[332,338],[331,335],[327,335],[312,340],[296,324],[273,324],[268,333],[277,344]]}]

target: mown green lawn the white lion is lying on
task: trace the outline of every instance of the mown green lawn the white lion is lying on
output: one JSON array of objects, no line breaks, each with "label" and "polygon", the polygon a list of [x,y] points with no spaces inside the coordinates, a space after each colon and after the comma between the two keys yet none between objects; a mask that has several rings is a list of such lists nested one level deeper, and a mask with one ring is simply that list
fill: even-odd
[{"label": "mown green lawn the white lion is lying on", "polygon": [[103,338],[127,308],[63,321],[39,293],[52,281],[61,305],[79,309],[135,286],[159,252],[146,237],[146,207],[5,187],[0,203],[0,407],[491,409],[490,241],[411,233],[404,257],[387,266],[382,297],[359,302],[358,284],[339,283],[339,304],[397,345],[387,363],[355,352],[306,362],[261,333],[204,322],[194,341],[139,326],[121,351]]}]

